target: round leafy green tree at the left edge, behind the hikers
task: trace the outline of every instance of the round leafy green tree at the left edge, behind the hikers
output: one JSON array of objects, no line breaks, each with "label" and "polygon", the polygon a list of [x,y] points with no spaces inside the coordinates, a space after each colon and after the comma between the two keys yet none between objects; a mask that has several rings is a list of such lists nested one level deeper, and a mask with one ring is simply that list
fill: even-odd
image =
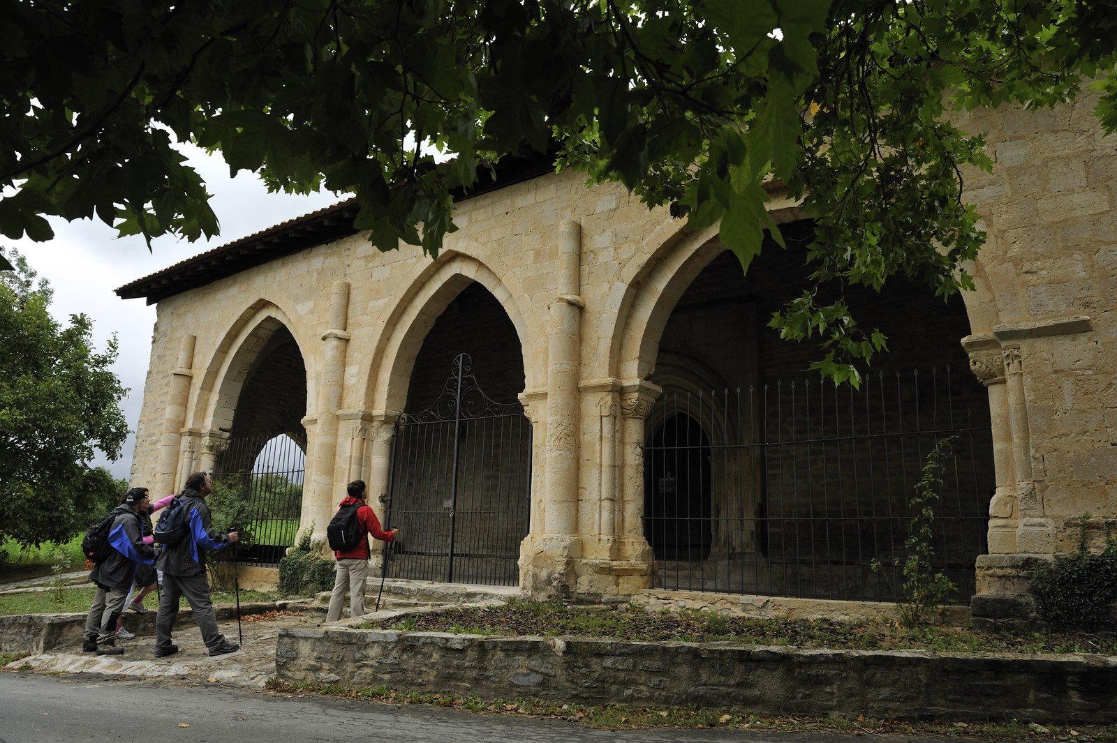
[{"label": "round leafy green tree at the left edge, behind the hikers", "polygon": [[47,311],[51,290],[12,252],[0,272],[0,538],[65,541],[115,506],[125,483],[86,462],[120,456],[127,392],[109,370],[116,339],[98,354],[92,325]]}]

